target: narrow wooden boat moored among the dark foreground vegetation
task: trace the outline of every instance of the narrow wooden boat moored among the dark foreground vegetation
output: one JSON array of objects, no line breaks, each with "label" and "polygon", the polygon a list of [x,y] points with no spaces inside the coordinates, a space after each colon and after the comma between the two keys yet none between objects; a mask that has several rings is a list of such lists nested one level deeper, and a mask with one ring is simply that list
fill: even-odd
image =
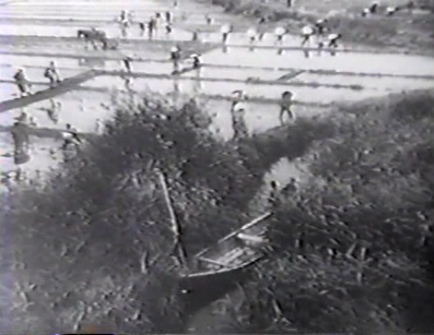
[{"label": "narrow wooden boat moored among the dark foreground vegetation", "polygon": [[179,274],[181,290],[212,286],[239,279],[253,264],[267,255],[267,238],[272,213],[266,213],[196,254]]}]

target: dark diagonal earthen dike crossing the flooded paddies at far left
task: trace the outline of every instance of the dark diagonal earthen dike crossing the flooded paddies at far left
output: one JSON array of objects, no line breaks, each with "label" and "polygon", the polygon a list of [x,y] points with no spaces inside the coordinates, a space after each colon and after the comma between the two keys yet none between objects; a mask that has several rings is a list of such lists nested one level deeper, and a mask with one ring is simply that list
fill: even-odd
[{"label": "dark diagonal earthen dike crossing the flooded paddies at far left", "polygon": [[47,100],[54,98],[60,94],[67,93],[71,91],[71,88],[84,83],[85,81],[94,77],[96,75],[94,70],[90,70],[78,75],[68,77],[57,84],[55,87],[50,87],[47,89],[43,89],[36,92],[32,95],[27,95],[24,97],[19,97],[11,100],[5,100],[0,103],[0,112],[4,112],[11,109],[23,108],[34,103]]}]

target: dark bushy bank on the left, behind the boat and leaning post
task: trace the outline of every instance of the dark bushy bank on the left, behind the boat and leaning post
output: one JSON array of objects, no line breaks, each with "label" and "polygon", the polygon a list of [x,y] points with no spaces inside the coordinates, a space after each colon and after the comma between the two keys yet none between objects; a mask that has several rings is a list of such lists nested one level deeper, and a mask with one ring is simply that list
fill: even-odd
[{"label": "dark bushy bank on the left, behind the boat and leaning post", "polygon": [[[277,160],[302,155],[322,134],[320,122],[300,121],[224,142],[195,103],[113,105],[117,113],[105,134],[47,184],[3,194],[4,333],[73,332],[86,324],[181,332],[187,318],[168,272],[173,234],[155,169],[166,176],[192,254],[249,217],[247,204]],[[297,145],[283,144],[295,143],[295,134]]]}]

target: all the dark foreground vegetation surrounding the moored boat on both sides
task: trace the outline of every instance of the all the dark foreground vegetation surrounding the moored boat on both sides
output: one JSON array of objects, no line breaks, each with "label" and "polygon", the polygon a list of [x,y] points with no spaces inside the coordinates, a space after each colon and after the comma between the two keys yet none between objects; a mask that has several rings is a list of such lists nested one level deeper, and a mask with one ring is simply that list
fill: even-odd
[{"label": "all the dark foreground vegetation surrounding the moored boat on both sides", "polygon": [[[2,331],[426,332],[433,103],[426,91],[372,99],[224,142],[195,101],[115,101],[78,159],[2,198]],[[301,156],[310,179],[281,199],[277,254],[212,306],[222,316],[187,318],[159,171],[191,255],[250,218],[274,163]]]}]

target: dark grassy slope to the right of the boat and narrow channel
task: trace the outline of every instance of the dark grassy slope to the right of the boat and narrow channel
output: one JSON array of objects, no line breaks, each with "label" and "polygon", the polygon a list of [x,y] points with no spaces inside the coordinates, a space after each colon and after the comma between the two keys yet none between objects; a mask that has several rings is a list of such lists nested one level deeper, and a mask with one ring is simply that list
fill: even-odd
[{"label": "dark grassy slope to the right of the boat and narrow channel", "polygon": [[312,180],[278,208],[280,255],[197,333],[432,330],[433,103],[422,91],[341,108],[304,157]]}]

